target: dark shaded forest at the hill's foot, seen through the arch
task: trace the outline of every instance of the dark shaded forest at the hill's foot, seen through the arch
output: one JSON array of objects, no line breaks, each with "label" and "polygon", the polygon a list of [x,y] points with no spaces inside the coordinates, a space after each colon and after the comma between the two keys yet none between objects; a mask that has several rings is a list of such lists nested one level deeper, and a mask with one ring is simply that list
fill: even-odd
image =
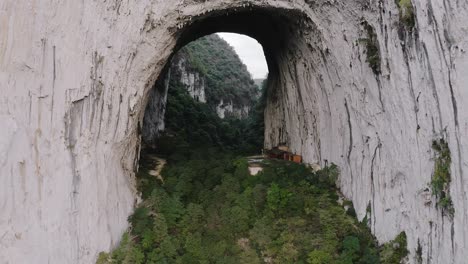
[{"label": "dark shaded forest at the hill's foot, seen through the arch", "polygon": [[[264,86],[265,87],[265,86]],[[166,130],[158,139],[158,152],[165,156],[179,154],[174,146],[216,146],[223,151],[254,154],[263,146],[263,111],[266,89],[248,118],[221,119],[205,103],[193,100],[185,88],[171,80],[166,108]]]}]

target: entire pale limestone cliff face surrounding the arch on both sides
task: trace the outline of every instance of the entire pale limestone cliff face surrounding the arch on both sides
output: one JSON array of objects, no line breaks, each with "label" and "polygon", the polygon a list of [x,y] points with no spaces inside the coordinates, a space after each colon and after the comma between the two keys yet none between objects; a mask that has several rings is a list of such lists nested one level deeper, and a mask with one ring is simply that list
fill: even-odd
[{"label": "entire pale limestone cliff face surrounding the arch on both sides", "polygon": [[[377,238],[406,231],[410,263],[418,245],[466,262],[468,2],[413,5],[409,29],[395,1],[1,2],[0,259],[92,263],[118,243],[149,91],[177,47],[232,31],[265,47],[267,147],[340,165]],[[440,137],[453,219],[426,194]]]}]

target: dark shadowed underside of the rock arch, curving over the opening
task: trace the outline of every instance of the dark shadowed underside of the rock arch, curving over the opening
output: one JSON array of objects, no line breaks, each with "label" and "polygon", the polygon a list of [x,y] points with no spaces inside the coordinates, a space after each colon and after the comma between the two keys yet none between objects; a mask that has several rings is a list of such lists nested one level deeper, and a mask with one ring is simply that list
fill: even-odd
[{"label": "dark shadowed underside of the rock arch, curving over the opening", "polygon": [[[305,39],[302,36],[297,36],[295,27],[298,25],[305,25],[312,23],[310,19],[298,10],[290,10],[284,8],[272,7],[255,7],[255,6],[240,6],[239,8],[216,10],[210,13],[190,18],[187,25],[181,27],[176,33],[176,45],[173,52],[167,59],[166,66],[161,71],[155,85],[152,89],[151,98],[155,101],[152,105],[151,113],[155,116],[156,120],[150,121],[150,130],[157,134],[158,121],[163,117],[164,111],[159,113],[161,107],[164,108],[166,98],[166,78],[168,67],[170,66],[172,57],[178,50],[191,41],[200,37],[214,34],[217,32],[230,32],[249,36],[256,39],[263,47],[264,55],[269,68],[269,90],[271,94],[277,89],[281,90],[278,85],[286,86],[286,81],[282,81],[280,72],[289,65],[280,65],[279,62],[295,62],[295,59],[289,59],[291,56],[297,56],[296,47],[298,44],[307,46]],[[294,34],[296,33],[296,35]],[[301,43],[302,42],[302,43]],[[295,70],[292,70],[295,71]],[[287,72],[286,75],[291,75],[292,72]],[[290,77],[294,79],[294,77]],[[149,98],[145,96],[145,98]],[[161,99],[159,99],[161,98]],[[145,117],[146,118],[146,117]],[[144,120],[146,121],[146,119]],[[143,126],[143,124],[141,125]]]}]

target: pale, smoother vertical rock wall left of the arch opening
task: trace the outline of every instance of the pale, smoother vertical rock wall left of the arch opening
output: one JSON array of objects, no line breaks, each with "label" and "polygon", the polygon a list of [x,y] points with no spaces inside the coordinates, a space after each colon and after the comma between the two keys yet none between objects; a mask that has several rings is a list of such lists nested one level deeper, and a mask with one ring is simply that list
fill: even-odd
[{"label": "pale, smoother vertical rock wall left of the arch opening", "polygon": [[161,3],[0,2],[1,263],[93,263],[120,240],[143,95],[175,44],[147,34]]}]

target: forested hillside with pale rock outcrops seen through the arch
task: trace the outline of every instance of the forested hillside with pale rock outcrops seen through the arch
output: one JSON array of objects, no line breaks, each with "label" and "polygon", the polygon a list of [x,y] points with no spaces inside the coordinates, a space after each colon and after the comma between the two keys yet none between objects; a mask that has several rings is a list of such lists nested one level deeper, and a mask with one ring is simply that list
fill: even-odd
[{"label": "forested hillside with pale rock outcrops seen through the arch", "polygon": [[[227,148],[241,144],[258,152],[263,145],[264,107],[257,106],[260,95],[258,85],[226,41],[216,34],[200,38],[175,54],[167,74],[152,89],[143,142],[155,147],[165,131],[165,135],[182,137],[179,143],[206,141]],[[250,131],[247,123],[252,122],[262,124]]]}]

